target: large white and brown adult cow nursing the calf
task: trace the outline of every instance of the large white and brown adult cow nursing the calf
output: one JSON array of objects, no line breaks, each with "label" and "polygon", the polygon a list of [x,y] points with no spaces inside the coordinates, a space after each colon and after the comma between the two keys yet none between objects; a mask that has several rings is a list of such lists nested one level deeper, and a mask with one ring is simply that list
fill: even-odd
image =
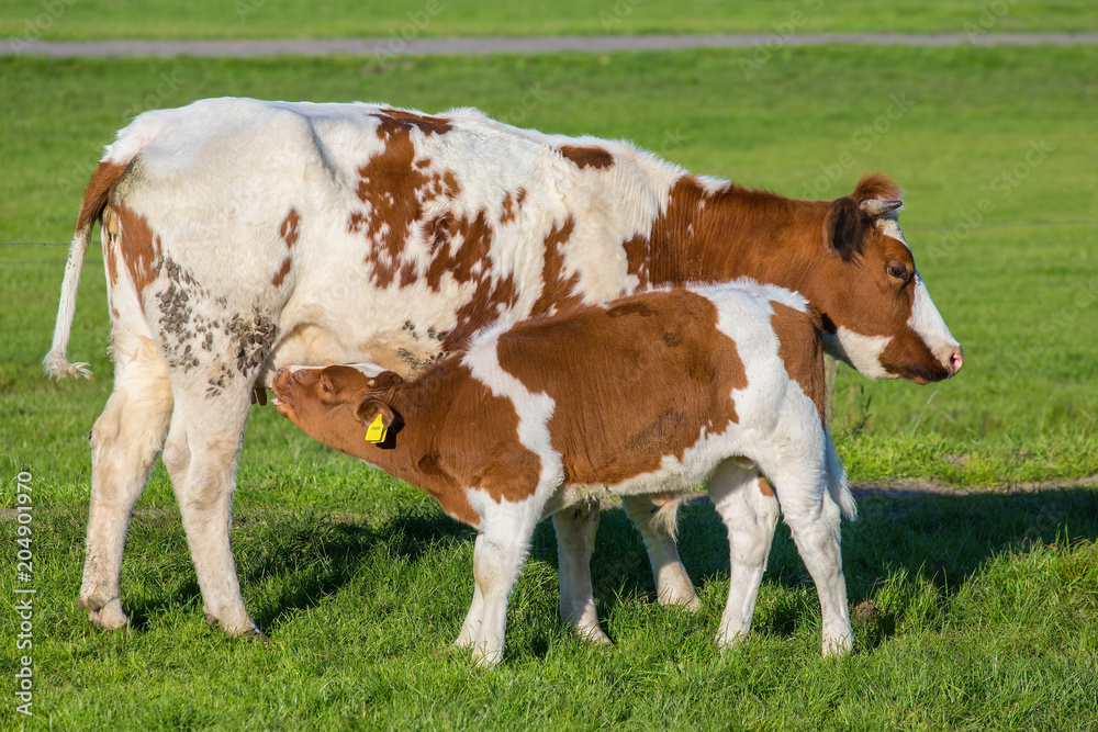
[{"label": "large white and brown adult cow nursing the calf", "polygon": [[[45,359],[58,378],[83,371],[65,350],[100,219],[115,383],[91,433],[81,607],[103,628],[127,622],[126,527],[163,449],[206,618],[258,632],[229,548],[232,496],[253,387],[285,364],[410,375],[498,319],[748,275],[799,290],[830,352],[867,376],[952,375],[961,349],[896,224],[897,194],[872,176],[837,201],[794,201],[474,110],[212,99],[142,114],[85,193]],[[744,475],[743,518],[728,527],[733,583],[761,574],[777,515]],[[661,599],[696,603],[665,511],[626,507]],[[554,526],[561,616],[605,640],[589,574],[597,510]]]}]

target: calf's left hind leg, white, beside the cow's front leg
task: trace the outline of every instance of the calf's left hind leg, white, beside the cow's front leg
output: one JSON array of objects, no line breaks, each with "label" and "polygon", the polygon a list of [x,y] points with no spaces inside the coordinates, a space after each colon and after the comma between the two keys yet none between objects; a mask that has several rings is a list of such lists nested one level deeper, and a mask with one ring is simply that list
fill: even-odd
[{"label": "calf's left hind leg, white, beside the cow's front leg", "polygon": [[717,468],[708,491],[728,529],[728,601],[717,631],[717,646],[728,647],[751,630],[778,507],[774,492],[755,466],[736,459]]}]

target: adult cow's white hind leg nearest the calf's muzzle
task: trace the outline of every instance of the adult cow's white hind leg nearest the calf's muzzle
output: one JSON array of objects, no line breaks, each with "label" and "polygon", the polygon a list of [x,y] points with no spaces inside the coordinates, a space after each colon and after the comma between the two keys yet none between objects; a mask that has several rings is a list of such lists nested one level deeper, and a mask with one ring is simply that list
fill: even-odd
[{"label": "adult cow's white hind leg nearest the calf's muzzle", "polygon": [[203,610],[233,635],[258,637],[244,607],[229,544],[236,464],[250,406],[250,381],[238,376],[210,391],[204,376],[173,374],[176,408],[164,447]]}]

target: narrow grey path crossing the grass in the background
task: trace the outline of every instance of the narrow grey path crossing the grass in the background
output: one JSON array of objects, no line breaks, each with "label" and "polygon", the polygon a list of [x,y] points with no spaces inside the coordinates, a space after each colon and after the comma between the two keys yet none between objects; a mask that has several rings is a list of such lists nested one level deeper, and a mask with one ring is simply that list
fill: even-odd
[{"label": "narrow grey path crossing the grass in the background", "polygon": [[1035,46],[1098,44],[1098,33],[758,33],[738,35],[618,35],[483,38],[321,38],[271,41],[78,41],[47,42],[10,37],[0,56],[437,56],[539,54],[560,50],[677,50],[815,46],[843,43],[869,46]]}]

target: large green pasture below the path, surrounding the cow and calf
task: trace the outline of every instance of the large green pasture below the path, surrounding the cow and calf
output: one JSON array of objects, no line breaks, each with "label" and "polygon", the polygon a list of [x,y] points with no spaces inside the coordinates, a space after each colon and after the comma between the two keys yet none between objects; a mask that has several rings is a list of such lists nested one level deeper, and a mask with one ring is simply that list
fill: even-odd
[{"label": "large green pasture below the path, surrounding the cow and calf", "polygon": [[[67,241],[94,161],[128,117],[229,93],[475,105],[546,131],[631,138],[696,172],[795,196],[837,198],[862,172],[887,171],[907,189],[901,224],[965,367],[927,387],[841,372],[839,450],[855,483],[972,491],[862,499],[843,544],[853,656],[819,657],[815,590],[784,529],[759,632],[717,654],[727,545],[712,508],[696,505],[681,543],[701,613],[654,603],[639,536],[612,509],[593,572],[616,645],[585,647],[556,619],[544,525],[512,598],[505,663],[471,668],[447,647],[471,597],[471,532],[270,408],[248,427],[233,541],[271,640],[205,628],[161,468],[123,568],[136,631],[93,631],[75,606],[86,436],[110,392],[102,270],[92,251],[69,348],[96,379],[54,384],[38,362],[66,250],[0,246],[0,506],[15,506],[19,470],[34,475],[30,725],[1093,729],[1098,488],[988,488],[1098,473],[1098,49],[795,48],[746,75],[750,53],[391,67],[0,59],[0,240]],[[15,526],[10,511],[0,518],[5,556]],[[5,600],[15,586],[0,576]],[[14,628],[0,624],[0,645],[14,647]],[[11,654],[0,673],[13,677]],[[0,724],[22,721],[10,699]]]}]

